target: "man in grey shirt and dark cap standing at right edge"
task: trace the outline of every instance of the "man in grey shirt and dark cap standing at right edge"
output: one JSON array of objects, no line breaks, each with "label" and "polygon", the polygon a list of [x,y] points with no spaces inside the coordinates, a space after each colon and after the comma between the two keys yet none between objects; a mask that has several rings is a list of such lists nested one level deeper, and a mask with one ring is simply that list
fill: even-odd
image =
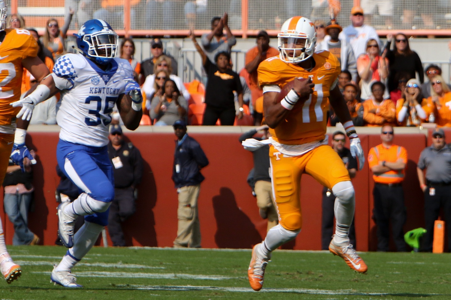
[{"label": "man in grey shirt and dark cap standing at right edge", "polygon": [[432,145],[421,151],[417,174],[424,193],[424,229],[427,230],[422,250],[432,252],[434,222],[442,207],[448,232],[448,251],[451,251],[451,149],[446,145],[442,128],[433,129]]}]

